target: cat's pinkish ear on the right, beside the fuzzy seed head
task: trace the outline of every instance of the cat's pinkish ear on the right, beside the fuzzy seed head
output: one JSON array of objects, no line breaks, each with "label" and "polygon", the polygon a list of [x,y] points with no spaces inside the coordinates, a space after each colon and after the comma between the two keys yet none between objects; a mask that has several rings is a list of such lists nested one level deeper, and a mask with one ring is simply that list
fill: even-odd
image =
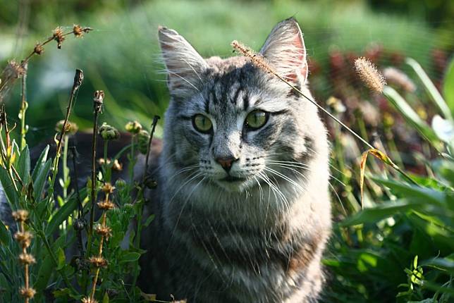
[{"label": "cat's pinkish ear on the right, beside the fuzzy seed head", "polygon": [[306,47],[300,25],[294,18],[278,23],[260,49],[276,72],[286,80],[304,84],[307,79]]}]

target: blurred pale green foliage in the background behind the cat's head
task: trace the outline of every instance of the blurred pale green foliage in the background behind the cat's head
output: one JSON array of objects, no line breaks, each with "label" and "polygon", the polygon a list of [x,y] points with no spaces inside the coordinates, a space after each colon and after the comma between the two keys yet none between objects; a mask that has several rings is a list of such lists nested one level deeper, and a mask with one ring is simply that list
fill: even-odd
[{"label": "blurred pale green foliage in the background behind the cat's head", "polygon": [[[309,80],[319,101],[336,94],[331,80],[344,76],[343,70],[332,69],[336,61],[384,49],[385,66],[411,56],[441,80],[436,61],[446,61],[454,48],[449,35],[453,1],[0,0],[0,7],[2,65],[11,58],[20,61],[59,25],[94,28],[83,39],[66,39],[61,50],[50,44],[30,62],[30,142],[53,134],[75,68],[85,72],[73,118],[80,128],[90,128],[94,89],[106,92],[104,117],[118,127],[130,119],[148,124],[153,114],[162,114],[168,94],[158,73],[158,25],[178,30],[203,56],[226,57],[232,55],[231,40],[259,49],[278,21],[295,16],[305,34]],[[17,116],[18,89],[7,100],[11,118]]]}]

